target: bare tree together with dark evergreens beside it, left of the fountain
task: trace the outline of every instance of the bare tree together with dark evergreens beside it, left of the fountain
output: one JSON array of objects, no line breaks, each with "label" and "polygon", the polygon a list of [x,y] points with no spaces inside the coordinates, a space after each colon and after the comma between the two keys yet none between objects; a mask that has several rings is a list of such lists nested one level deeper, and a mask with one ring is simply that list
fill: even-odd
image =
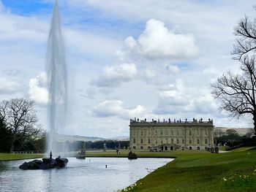
[{"label": "bare tree together with dark evergreens beside it, left of the fountain", "polygon": [[0,102],[0,152],[42,150],[45,131],[38,124],[35,102],[10,99]]}]

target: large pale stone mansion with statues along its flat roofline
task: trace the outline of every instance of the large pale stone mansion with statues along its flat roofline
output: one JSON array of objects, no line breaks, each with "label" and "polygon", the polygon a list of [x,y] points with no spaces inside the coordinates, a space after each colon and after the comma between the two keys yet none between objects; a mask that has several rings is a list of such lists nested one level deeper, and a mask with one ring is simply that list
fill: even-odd
[{"label": "large pale stone mansion with statues along its flat roofline", "polygon": [[213,120],[130,120],[129,146],[132,149],[205,150],[214,147]]}]

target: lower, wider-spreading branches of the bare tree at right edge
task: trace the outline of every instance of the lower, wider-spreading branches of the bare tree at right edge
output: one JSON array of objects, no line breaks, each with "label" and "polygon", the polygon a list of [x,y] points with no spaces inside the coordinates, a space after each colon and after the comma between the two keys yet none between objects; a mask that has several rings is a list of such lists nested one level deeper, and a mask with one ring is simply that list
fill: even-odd
[{"label": "lower, wider-spreading branches of the bare tree at right edge", "polygon": [[211,93],[214,99],[221,102],[220,110],[230,112],[231,116],[239,118],[245,114],[252,115],[256,131],[255,58],[244,57],[241,61],[241,70],[242,74],[223,74],[212,85]]}]

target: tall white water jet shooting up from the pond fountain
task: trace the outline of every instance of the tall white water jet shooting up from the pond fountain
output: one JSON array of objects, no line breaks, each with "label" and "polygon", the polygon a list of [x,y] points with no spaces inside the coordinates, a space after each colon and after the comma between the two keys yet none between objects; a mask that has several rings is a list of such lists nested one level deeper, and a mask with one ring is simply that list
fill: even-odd
[{"label": "tall white water jet shooting up from the pond fountain", "polygon": [[56,135],[64,128],[67,113],[67,66],[65,62],[64,43],[61,35],[59,3],[56,0],[50,26],[47,50],[48,73],[48,126],[50,133],[47,138],[48,153],[51,150],[60,152],[56,146]]}]

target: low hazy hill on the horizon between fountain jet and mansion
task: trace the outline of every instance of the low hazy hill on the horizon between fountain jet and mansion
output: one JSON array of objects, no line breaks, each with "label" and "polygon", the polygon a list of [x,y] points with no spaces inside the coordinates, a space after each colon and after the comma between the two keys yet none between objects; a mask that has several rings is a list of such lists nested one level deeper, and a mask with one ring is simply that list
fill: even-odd
[{"label": "low hazy hill on the horizon between fountain jet and mansion", "polygon": [[96,141],[104,141],[104,140],[118,140],[118,141],[127,141],[129,140],[129,137],[113,137],[110,139],[101,138],[101,137],[84,137],[79,135],[64,135],[59,134],[56,138],[59,142],[65,142],[65,141],[83,141],[83,142],[96,142]]}]

